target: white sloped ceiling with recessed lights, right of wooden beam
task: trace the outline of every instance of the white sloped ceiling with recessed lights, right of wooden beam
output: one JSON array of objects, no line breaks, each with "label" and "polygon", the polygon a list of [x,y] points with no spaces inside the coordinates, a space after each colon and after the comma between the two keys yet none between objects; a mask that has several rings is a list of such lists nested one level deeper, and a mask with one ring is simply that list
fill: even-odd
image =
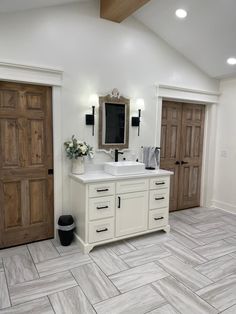
[{"label": "white sloped ceiling with recessed lights, right of wooden beam", "polygon": [[211,77],[236,74],[226,63],[236,57],[236,0],[151,0],[135,17]]}]

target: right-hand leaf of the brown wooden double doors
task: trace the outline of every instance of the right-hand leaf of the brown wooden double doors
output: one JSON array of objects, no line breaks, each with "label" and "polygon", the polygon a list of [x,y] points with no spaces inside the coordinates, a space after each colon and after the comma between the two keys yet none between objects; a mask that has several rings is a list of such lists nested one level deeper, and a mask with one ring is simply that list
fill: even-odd
[{"label": "right-hand leaf of the brown wooden double doors", "polygon": [[182,107],[181,155],[178,208],[200,206],[205,107]]}]

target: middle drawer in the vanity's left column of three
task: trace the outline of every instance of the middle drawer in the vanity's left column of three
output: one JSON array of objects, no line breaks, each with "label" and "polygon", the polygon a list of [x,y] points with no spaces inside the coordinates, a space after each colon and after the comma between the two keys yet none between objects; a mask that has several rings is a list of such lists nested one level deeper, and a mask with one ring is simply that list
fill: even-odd
[{"label": "middle drawer in the vanity's left column of three", "polygon": [[103,196],[89,199],[89,220],[113,217],[114,211],[114,196]]}]

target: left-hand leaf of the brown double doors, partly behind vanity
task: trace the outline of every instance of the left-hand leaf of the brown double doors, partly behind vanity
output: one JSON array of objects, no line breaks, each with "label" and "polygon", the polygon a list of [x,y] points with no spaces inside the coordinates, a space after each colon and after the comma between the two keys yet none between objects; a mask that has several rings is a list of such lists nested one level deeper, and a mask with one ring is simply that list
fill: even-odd
[{"label": "left-hand leaf of the brown double doors, partly behind vanity", "polygon": [[170,179],[170,211],[178,208],[179,159],[182,104],[163,102],[161,125],[161,168],[174,172]]}]

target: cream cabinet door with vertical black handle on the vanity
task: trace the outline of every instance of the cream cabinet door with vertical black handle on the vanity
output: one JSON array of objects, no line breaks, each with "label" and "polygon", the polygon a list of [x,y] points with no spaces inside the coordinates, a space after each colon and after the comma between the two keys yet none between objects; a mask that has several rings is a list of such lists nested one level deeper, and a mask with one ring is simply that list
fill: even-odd
[{"label": "cream cabinet door with vertical black handle on the vanity", "polygon": [[148,192],[117,195],[116,236],[147,230]]}]

